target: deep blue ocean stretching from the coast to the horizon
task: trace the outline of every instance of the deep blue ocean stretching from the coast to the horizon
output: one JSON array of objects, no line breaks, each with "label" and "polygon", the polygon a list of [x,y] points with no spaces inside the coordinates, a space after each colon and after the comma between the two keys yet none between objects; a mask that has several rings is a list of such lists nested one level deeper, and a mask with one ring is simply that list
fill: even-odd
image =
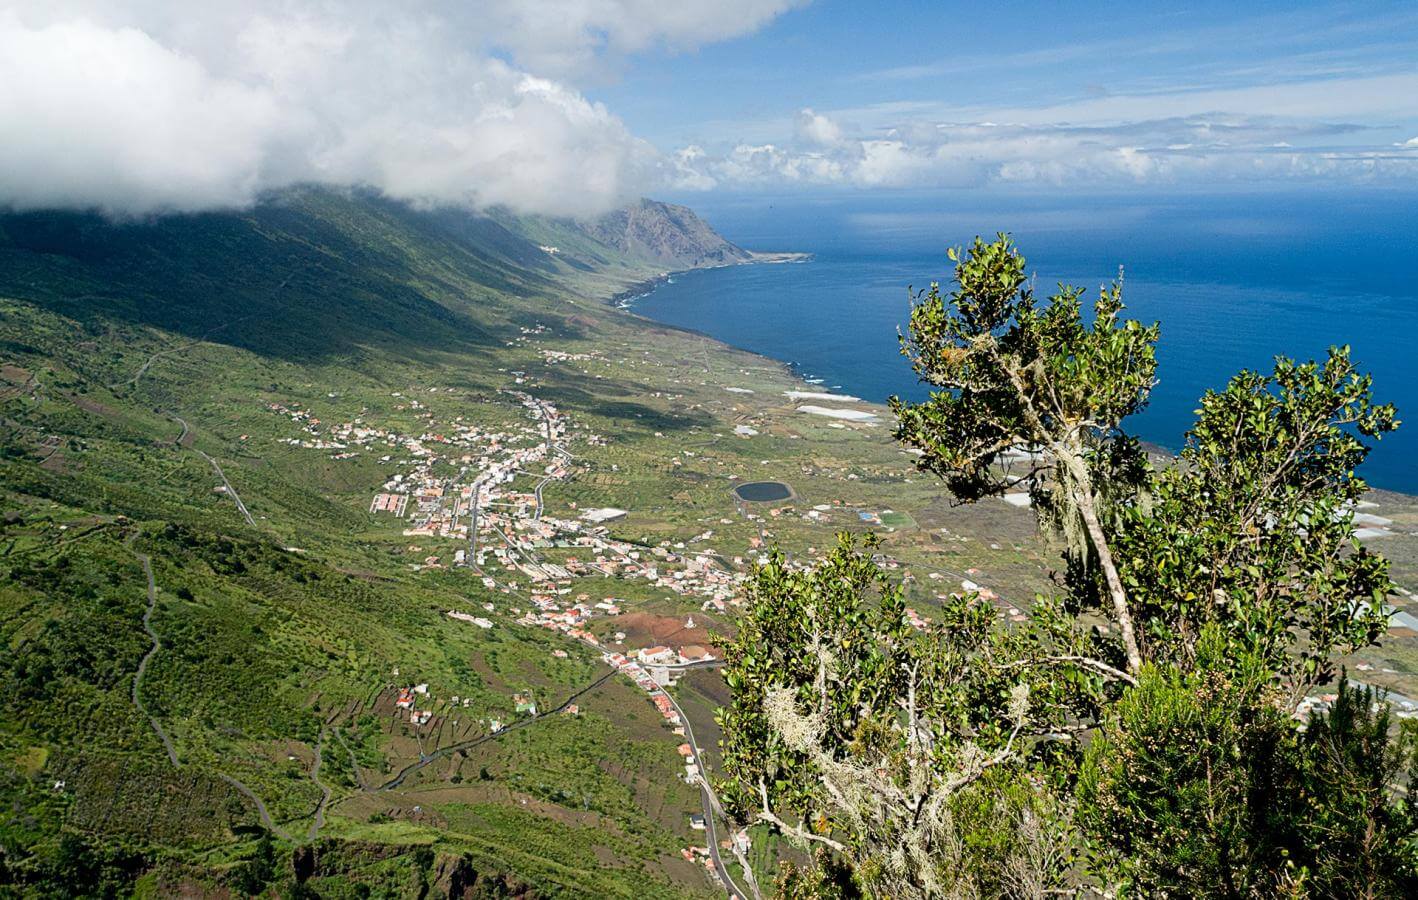
[{"label": "deep blue ocean stretching from the coast to the horizon", "polygon": [[908,286],[949,282],[947,247],[1010,231],[1042,293],[1056,282],[1095,291],[1126,266],[1130,315],[1161,322],[1159,384],[1130,424],[1144,439],[1178,448],[1202,391],[1239,369],[1347,343],[1378,400],[1409,420],[1364,475],[1418,493],[1418,193],[685,200],[743,247],[813,259],[681,274],[635,302],[641,315],[788,361],[824,387],[922,397],[896,343]]}]

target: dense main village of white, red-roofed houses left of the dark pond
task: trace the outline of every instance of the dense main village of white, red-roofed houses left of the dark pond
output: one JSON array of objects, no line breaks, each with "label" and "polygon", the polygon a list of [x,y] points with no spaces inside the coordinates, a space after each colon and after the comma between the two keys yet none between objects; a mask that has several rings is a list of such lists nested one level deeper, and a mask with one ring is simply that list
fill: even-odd
[{"label": "dense main village of white, red-roofed houses left of the dark pond", "polygon": [[[401,394],[394,394],[403,401],[400,411],[413,412],[425,425],[417,434],[379,427],[363,418],[326,425],[308,410],[284,404],[268,404],[268,410],[301,427],[301,437],[282,438],[284,444],[328,451],[336,461],[379,454],[379,462],[397,465],[398,471],[374,493],[369,512],[404,519],[404,537],[452,540],[458,544],[451,558],[428,553],[414,567],[468,568],[486,590],[515,598],[503,609],[512,621],[560,632],[597,652],[603,662],[645,692],[674,736],[685,738],[679,744],[683,780],[712,791],[702,777],[699,750],[692,733],[686,731],[683,713],[665,689],[683,670],[716,666],[722,660],[702,645],[647,646],[638,651],[604,646],[587,625],[597,617],[620,615],[623,602],[614,597],[593,598],[586,591],[576,592],[573,584],[580,578],[638,580],[685,598],[702,611],[722,612],[735,602],[746,577],[744,561],[737,558],[730,568],[705,543],[712,531],[696,536],[691,541],[695,544],[692,550],[685,543],[662,541],[645,547],[618,540],[607,526],[627,514],[621,509],[586,509],[576,519],[546,514],[543,488],[573,473],[574,456],[566,448],[573,429],[550,403],[522,391],[506,394],[522,408],[526,417],[523,424],[501,428],[476,427],[459,420],[437,424],[425,404]],[[577,432],[576,438],[590,445],[600,442],[594,434]],[[522,482],[518,482],[519,478]],[[545,558],[545,551],[552,549],[570,553],[550,561]],[[417,554],[423,547],[411,544],[410,550]],[[481,614],[450,609],[447,615],[492,629],[496,612],[498,604],[484,602]],[[692,618],[686,626],[695,626]],[[614,638],[623,641],[624,635]],[[566,656],[566,651],[554,653]],[[518,696],[515,703],[518,713],[537,714],[530,696]],[[398,689],[396,707],[415,729],[432,724],[428,685]],[[573,704],[563,711],[576,714],[577,710]],[[498,733],[508,724],[499,719],[486,720],[489,733]],[[708,805],[705,814],[712,815]],[[706,815],[695,815],[691,828],[708,829]],[[742,846],[746,835],[737,840]],[[688,848],[685,853],[703,860],[710,877],[719,877],[712,859],[716,853],[710,848]]]}]

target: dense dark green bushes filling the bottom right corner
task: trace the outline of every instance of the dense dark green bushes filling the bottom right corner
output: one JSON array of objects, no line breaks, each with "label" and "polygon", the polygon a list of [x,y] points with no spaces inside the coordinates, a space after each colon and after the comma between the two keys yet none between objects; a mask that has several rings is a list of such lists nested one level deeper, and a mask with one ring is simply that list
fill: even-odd
[{"label": "dense dark green bushes filling the bottom right corner", "polygon": [[1089,747],[1081,825],[1110,880],[1141,896],[1408,897],[1418,890],[1409,723],[1341,683],[1300,731],[1262,659],[1149,668]]}]

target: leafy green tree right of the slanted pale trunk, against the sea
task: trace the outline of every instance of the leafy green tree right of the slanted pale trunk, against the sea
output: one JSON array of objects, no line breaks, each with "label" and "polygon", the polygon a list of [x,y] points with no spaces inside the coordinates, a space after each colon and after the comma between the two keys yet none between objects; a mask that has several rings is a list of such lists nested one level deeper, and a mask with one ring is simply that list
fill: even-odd
[{"label": "leafy green tree right of the slanted pale trunk, against the sea", "polygon": [[1388,561],[1354,540],[1361,437],[1397,427],[1349,347],[1279,359],[1201,400],[1178,465],[1126,507],[1113,539],[1149,656],[1188,663],[1207,625],[1258,653],[1293,706],[1333,659],[1388,626]]}]

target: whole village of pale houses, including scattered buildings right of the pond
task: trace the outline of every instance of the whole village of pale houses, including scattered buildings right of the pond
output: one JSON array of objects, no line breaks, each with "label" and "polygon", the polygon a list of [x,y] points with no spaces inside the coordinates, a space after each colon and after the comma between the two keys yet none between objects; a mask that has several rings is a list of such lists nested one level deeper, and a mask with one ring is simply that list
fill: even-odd
[{"label": "whole village of pale houses, including scattered buildings right of the pond", "polygon": [[[525,384],[520,373],[512,374],[519,386]],[[440,388],[421,390],[437,393]],[[773,497],[786,500],[781,506],[737,503],[739,514],[757,529],[757,534],[749,537],[752,558],[716,551],[712,546],[713,530],[654,546],[623,540],[613,536],[611,526],[631,514],[630,510],[610,506],[576,509],[570,503],[571,517],[549,513],[543,502],[547,485],[564,482],[580,471],[569,445],[600,446],[604,439],[574,427],[553,404],[530,393],[513,388],[502,394],[519,408],[520,422],[475,425],[461,417],[438,422],[424,403],[403,394],[394,394],[393,400],[400,401],[400,412],[415,417],[421,425],[417,431],[380,427],[363,418],[325,425],[299,407],[269,404],[268,408],[299,425],[298,438],[282,439],[288,445],[325,451],[333,461],[370,455],[397,468],[370,499],[369,512],[403,523],[401,536],[415,541],[407,546],[415,557],[411,566],[415,570],[467,570],[489,592],[505,598],[496,602],[485,598],[479,602],[481,608],[448,609],[451,619],[479,629],[512,622],[557,632],[596,653],[644,692],[664,727],[679,738],[681,778],[698,787],[703,797],[703,811],[691,816],[689,826],[706,832],[708,843],[685,848],[683,855],[702,863],[710,879],[722,880],[726,869],[719,852],[744,853],[747,833],[739,831],[723,839],[718,836],[713,821],[718,798],[703,772],[702,748],[668,689],[685,672],[716,668],[723,660],[702,642],[630,646],[627,635],[614,631],[617,617],[627,612],[630,602],[617,597],[627,591],[615,585],[638,583],[641,590],[630,592],[662,591],[700,614],[722,614],[740,602],[752,563],[764,558],[761,554],[771,539],[766,526],[781,522],[784,516],[828,524],[832,516],[847,513],[866,526],[882,527],[882,516],[892,513],[854,510],[841,502],[793,512],[791,496]],[[813,554],[790,564],[805,567],[811,563]],[[1020,608],[974,581],[980,570],[910,574],[902,561],[885,554],[879,564],[888,570],[903,570],[900,574],[908,581],[919,578],[937,598],[973,592],[980,601],[994,604],[1001,618],[1015,622],[1025,618]],[[908,608],[906,617],[917,631],[930,626],[916,608]],[[598,619],[607,625],[594,628]],[[689,614],[683,631],[693,628],[693,614]],[[569,653],[556,649],[553,655],[566,658]],[[400,714],[417,733],[430,733],[438,724],[434,709],[440,704],[430,694],[428,685],[404,685],[397,690]],[[557,710],[539,710],[530,692],[518,693],[512,700],[516,710],[512,719],[503,713],[484,719],[488,734],[553,711],[579,714],[574,703]],[[467,699],[459,702],[454,697],[451,703],[468,706]]]}]

